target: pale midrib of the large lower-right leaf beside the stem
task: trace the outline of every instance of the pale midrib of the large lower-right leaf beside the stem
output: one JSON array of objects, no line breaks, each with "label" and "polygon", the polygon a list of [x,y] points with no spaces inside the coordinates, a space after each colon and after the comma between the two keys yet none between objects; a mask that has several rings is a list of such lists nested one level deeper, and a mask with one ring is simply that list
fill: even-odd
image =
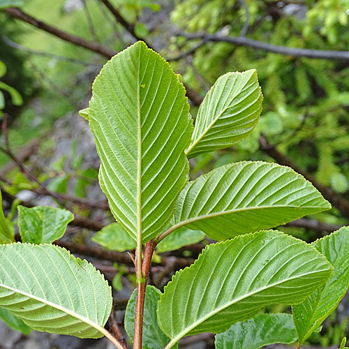
[{"label": "pale midrib of the large lower-right leaf beside the stem", "polygon": [[315,272],[309,272],[309,273],[305,273],[305,274],[302,274],[302,275],[292,276],[291,278],[283,279],[282,281],[279,281],[277,283],[272,283],[271,285],[268,285],[268,286],[266,286],[264,288],[259,288],[258,290],[255,290],[253,292],[249,292],[249,293],[247,293],[246,295],[244,295],[242,297],[233,299],[231,302],[227,302],[227,304],[225,304],[224,306],[221,306],[221,307],[215,309],[214,311],[211,311],[210,313],[205,315],[203,318],[200,318],[200,320],[198,320],[196,322],[193,322],[193,325],[187,327],[186,330],[184,330],[184,331],[180,332],[179,334],[177,334],[177,336],[175,336],[174,339],[172,339],[170,341],[170,343],[168,343],[168,346],[166,346],[166,348],[172,348],[174,343],[177,343],[177,341],[179,341],[179,339],[181,339],[183,336],[185,336],[186,334],[191,332],[191,330],[195,329],[195,327],[197,327],[198,325],[202,324],[202,322],[205,322],[206,320],[211,318],[211,316],[216,315],[220,311],[223,311],[224,309],[228,308],[229,306],[232,306],[233,304],[236,304],[236,303],[242,301],[243,299],[246,299],[247,297],[250,297],[252,295],[258,294],[259,292],[262,292],[262,291],[267,290],[269,288],[273,288],[274,286],[280,285],[281,283],[288,282],[288,281],[291,281],[293,279],[299,279],[299,277],[304,277],[304,276],[307,276],[307,275],[318,274],[320,272],[327,272],[327,271],[329,271],[329,269],[321,269],[321,270],[317,270]]}]

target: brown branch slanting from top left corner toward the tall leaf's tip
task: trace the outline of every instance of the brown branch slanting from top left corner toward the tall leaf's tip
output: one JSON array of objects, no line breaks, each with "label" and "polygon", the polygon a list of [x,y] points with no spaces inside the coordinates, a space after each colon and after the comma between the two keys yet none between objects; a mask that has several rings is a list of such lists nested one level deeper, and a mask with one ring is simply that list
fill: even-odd
[{"label": "brown branch slanting from top left corner toward the tall leaf's tip", "polygon": [[55,27],[50,26],[49,24],[46,24],[45,22],[42,22],[40,20],[37,20],[34,17],[31,17],[30,15],[27,15],[27,13],[24,13],[19,8],[5,8],[3,10],[4,13],[10,15],[11,17],[15,17],[18,20],[22,20],[23,22],[27,22],[33,27],[36,27],[38,29],[42,29],[43,31],[46,31],[47,33],[50,33],[54,36],[57,36],[57,38],[61,38],[64,41],[68,41],[68,43],[73,43],[74,45],[84,47],[87,50],[102,54],[103,56],[107,58],[111,58],[117,52],[114,50],[110,50],[107,47],[104,47],[100,45],[99,43],[93,43],[89,40],[84,40],[83,38],[80,38],[79,36],[75,36],[73,34],[68,34],[66,31],[61,31],[60,29],[57,29]]}]

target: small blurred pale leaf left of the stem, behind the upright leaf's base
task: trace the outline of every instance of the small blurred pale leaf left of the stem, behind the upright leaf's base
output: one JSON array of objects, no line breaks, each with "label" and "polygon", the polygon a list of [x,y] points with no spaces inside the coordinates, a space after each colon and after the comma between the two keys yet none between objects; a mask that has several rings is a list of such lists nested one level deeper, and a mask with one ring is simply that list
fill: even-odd
[{"label": "small blurred pale leaf left of the stem, behind the upright leaf's base", "polygon": [[92,241],[96,242],[110,251],[127,251],[135,249],[136,242],[132,235],[129,235],[119,223],[106,225],[97,232]]}]

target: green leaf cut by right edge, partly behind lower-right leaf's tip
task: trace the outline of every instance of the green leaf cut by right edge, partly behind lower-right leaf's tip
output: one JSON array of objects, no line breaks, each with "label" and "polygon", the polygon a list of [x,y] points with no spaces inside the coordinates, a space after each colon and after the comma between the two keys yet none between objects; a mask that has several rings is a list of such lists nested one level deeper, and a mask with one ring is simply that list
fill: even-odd
[{"label": "green leaf cut by right edge, partly behind lower-right leaf's tip", "polygon": [[301,344],[336,309],[349,288],[349,227],[317,240],[313,246],[332,263],[334,271],[325,285],[292,307]]}]

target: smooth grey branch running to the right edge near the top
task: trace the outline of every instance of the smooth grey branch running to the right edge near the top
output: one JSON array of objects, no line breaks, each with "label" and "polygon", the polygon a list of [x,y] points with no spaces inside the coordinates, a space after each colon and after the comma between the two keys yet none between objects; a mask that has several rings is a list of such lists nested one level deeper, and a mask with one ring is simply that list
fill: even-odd
[{"label": "smooth grey branch running to the right edge near the top", "polygon": [[308,48],[287,47],[281,45],[273,45],[258,40],[246,38],[245,36],[224,36],[222,34],[200,34],[200,33],[178,33],[177,36],[184,36],[188,40],[201,39],[213,42],[225,42],[238,46],[253,47],[256,50],[264,50],[284,54],[291,57],[307,57],[313,59],[330,59],[335,61],[349,61],[348,51],[327,51],[327,50],[312,50]]}]

